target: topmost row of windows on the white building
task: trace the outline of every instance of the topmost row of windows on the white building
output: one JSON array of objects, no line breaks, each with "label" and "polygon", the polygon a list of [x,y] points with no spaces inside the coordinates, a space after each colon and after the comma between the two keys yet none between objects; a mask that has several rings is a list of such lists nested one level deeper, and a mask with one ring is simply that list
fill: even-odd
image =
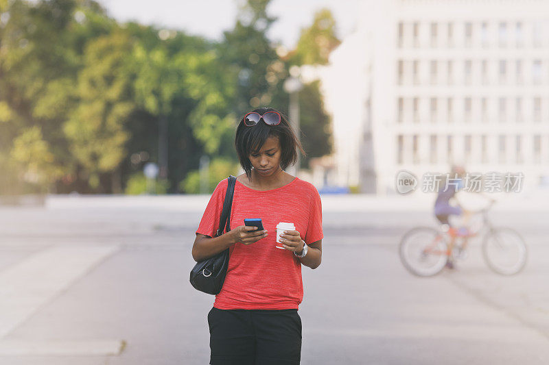
[{"label": "topmost row of windows on the white building", "polygon": [[400,21],[397,47],[541,47],[549,31],[549,20],[489,22]]}]

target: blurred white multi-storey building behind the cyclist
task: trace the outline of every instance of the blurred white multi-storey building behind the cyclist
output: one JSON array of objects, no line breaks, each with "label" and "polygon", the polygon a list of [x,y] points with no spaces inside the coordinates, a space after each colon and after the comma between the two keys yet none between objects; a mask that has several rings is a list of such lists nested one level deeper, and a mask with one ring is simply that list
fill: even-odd
[{"label": "blurred white multi-storey building behind the cyclist", "polygon": [[393,194],[401,169],[549,177],[549,1],[384,0],[321,73],[336,184]]}]

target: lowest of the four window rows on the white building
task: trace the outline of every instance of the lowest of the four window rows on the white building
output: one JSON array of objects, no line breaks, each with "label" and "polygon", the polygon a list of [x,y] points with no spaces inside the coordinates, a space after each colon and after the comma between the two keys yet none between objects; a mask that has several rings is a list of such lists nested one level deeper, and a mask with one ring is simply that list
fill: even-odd
[{"label": "lowest of the four window rows on the white building", "polygon": [[[452,162],[454,158],[455,149],[454,142],[456,136],[439,136],[432,134],[429,136],[428,140],[428,158],[427,160],[421,160],[419,153],[419,136],[397,136],[397,164],[404,164],[405,156],[411,157],[411,162],[414,164],[437,164],[441,162]],[[465,162],[480,162],[480,163],[489,163],[489,162],[498,162],[500,164],[506,163],[523,163],[525,155],[525,147],[531,145],[532,158],[533,162],[536,164],[541,163],[541,135],[537,134],[535,136],[497,136],[497,158],[495,161],[489,161],[489,151],[488,151],[488,140],[487,136],[480,136],[478,139],[478,149],[477,153],[478,161],[471,161],[471,151],[473,150],[474,139],[471,135],[463,136],[463,157]],[[445,144],[445,151],[439,149],[439,143]],[[530,144],[531,143],[531,144]],[[409,147],[406,147],[406,144],[409,144]],[[409,151],[408,151],[409,149]],[[509,158],[508,153],[513,154]]]}]

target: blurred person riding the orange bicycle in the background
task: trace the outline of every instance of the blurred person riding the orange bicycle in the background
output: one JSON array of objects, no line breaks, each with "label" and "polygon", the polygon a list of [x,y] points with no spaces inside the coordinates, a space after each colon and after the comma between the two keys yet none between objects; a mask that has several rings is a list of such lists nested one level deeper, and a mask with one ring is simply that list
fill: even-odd
[{"label": "blurred person riding the orange bicycle in the background", "polygon": [[[468,221],[471,216],[471,212],[463,208],[460,205],[458,199],[456,199],[456,192],[464,187],[463,179],[465,177],[465,168],[463,166],[454,165],[449,173],[448,181],[441,181],[441,186],[434,202],[434,215],[442,223],[444,231],[447,231],[450,236],[450,242],[448,244],[447,253],[448,261],[446,266],[448,268],[454,268],[454,262],[452,260],[452,249],[454,248],[454,242],[458,235],[466,236],[467,233],[460,231],[456,227],[452,227],[449,222],[450,216],[465,215],[465,221]],[[456,204],[452,204],[451,201],[455,201]],[[464,237],[463,245],[460,249],[464,249],[467,246],[467,237]]]}]

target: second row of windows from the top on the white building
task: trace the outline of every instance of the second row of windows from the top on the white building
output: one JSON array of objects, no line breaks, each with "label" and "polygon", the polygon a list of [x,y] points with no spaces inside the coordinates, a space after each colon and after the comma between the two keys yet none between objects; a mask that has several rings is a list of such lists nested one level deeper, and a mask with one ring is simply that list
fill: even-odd
[{"label": "second row of windows from the top on the white building", "polygon": [[[456,68],[460,68],[456,70]],[[497,68],[495,70],[494,68]],[[458,71],[458,75],[456,75]],[[514,83],[535,85],[546,82],[549,61],[543,60],[398,60],[397,84],[490,84],[497,72],[500,84]],[[545,71],[545,72],[544,72]],[[428,75],[425,75],[427,74]],[[525,75],[528,73],[528,75]],[[425,76],[425,77],[423,77]],[[495,76],[495,75],[494,75]],[[428,78],[428,80],[427,80]]]}]

